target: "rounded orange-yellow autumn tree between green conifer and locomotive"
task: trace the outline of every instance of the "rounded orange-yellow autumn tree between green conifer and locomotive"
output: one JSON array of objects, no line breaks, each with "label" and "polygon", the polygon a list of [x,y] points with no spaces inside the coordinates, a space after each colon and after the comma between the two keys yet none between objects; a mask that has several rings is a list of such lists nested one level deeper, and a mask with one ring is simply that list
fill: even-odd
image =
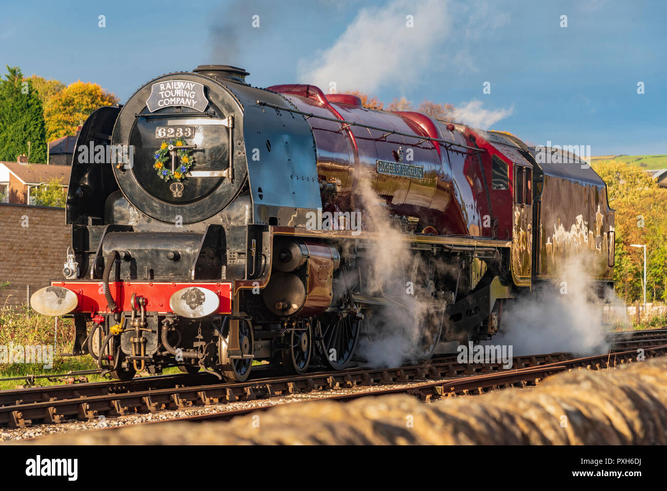
[{"label": "rounded orange-yellow autumn tree between green conifer and locomotive", "polygon": [[113,105],[118,98],[97,83],[78,80],[55,94],[44,114],[49,141],[66,135],[75,135],[77,126],[99,107]]}]

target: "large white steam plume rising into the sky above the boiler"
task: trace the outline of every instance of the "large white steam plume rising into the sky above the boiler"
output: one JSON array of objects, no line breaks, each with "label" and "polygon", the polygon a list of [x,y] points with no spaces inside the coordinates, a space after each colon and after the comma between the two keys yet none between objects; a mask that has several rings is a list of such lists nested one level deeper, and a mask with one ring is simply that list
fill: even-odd
[{"label": "large white steam plume rising into the sky above the boiler", "polygon": [[[363,9],[329,49],[299,61],[299,80],[324,91],[332,81],[339,91],[418,81],[450,33],[448,5],[448,0],[392,0]],[[414,27],[407,27],[408,15]]]}]

